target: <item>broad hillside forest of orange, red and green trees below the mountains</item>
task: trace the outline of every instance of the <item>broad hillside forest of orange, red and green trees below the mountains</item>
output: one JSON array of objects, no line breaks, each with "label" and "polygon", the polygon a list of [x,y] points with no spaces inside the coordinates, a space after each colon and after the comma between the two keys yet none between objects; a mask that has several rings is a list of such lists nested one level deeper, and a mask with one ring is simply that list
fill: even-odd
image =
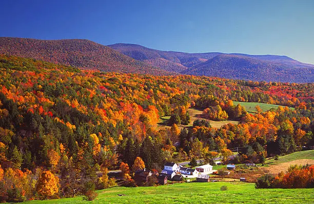
[{"label": "broad hillside forest of orange, red and green trees below the mountains", "polygon": [[[160,171],[165,161],[212,151],[227,162],[235,147],[242,147],[241,162],[264,162],[267,155],[313,146],[313,84],[104,73],[7,55],[0,55],[0,75],[2,200],[35,192],[47,198],[41,179],[53,175],[60,186],[49,195],[81,194],[90,183],[107,188],[108,177],[96,172],[121,165],[134,171],[139,160]],[[256,107],[251,115],[232,100],[295,109]],[[240,124],[217,129],[197,120],[180,131],[190,107],[204,109],[204,118]],[[170,116],[171,129],[156,129],[160,116]]]}]

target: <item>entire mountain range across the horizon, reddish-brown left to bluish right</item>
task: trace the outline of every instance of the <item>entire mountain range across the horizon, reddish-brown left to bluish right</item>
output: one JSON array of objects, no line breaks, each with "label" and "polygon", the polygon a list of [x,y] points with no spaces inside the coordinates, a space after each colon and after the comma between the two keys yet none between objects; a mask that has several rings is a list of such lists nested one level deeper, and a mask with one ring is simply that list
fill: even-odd
[{"label": "entire mountain range across the horizon, reddish-brown left to bluish right", "polygon": [[13,37],[0,37],[0,54],[107,72],[314,82],[314,65],[278,55],[184,53],[154,50],[134,44],[104,46],[86,39],[39,40]]}]

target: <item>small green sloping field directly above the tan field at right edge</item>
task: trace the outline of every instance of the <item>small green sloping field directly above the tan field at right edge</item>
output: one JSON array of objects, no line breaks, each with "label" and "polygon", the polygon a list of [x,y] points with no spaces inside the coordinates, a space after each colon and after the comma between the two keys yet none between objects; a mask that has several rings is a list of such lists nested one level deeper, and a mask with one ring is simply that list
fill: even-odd
[{"label": "small green sloping field directly above the tan field at right edge", "polygon": [[277,161],[274,159],[269,159],[269,160],[266,160],[266,164],[269,164],[269,165],[281,164],[284,162],[300,160],[300,159],[313,159],[314,160],[314,150],[295,152],[292,154],[281,156],[281,157],[279,157],[279,159]]}]

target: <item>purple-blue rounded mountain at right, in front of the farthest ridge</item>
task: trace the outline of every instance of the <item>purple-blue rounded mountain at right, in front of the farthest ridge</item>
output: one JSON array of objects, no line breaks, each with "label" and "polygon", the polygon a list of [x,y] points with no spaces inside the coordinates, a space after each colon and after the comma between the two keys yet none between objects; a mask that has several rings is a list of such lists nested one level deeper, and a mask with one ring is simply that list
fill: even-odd
[{"label": "purple-blue rounded mountain at right, in front of the farthest ridge", "polygon": [[258,81],[314,81],[314,67],[311,66],[291,66],[232,54],[217,55],[182,73]]}]

